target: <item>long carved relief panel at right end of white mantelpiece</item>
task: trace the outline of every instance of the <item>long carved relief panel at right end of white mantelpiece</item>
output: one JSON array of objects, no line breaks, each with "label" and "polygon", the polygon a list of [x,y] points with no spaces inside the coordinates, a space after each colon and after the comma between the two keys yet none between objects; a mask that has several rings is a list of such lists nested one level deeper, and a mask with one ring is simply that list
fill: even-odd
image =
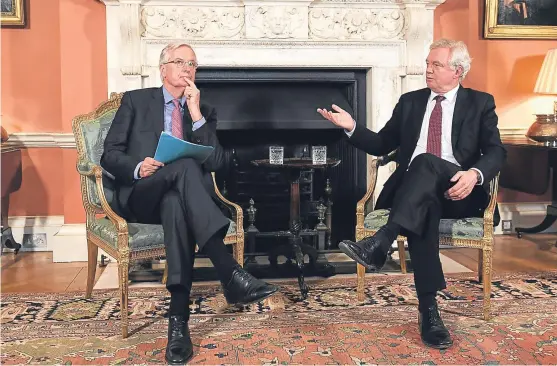
[{"label": "long carved relief panel at right end of white mantelpiece", "polygon": [[399,9],[312,8],[309,29],[314,39],[400,39],[404,14]]}]

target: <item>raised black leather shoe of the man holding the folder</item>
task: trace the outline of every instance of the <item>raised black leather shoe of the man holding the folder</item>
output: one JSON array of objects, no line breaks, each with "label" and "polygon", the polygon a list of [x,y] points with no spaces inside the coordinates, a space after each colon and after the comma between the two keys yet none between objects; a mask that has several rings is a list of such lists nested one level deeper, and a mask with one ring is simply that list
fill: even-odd
[{"label": "raised black leather shoe of the man holding the folder", "polygon": [[277,292],[278,287],[258,280],[237,266],[232,271],[230,282],[223,285],[223,290],[229,304],[248,305],[265,300]]}]

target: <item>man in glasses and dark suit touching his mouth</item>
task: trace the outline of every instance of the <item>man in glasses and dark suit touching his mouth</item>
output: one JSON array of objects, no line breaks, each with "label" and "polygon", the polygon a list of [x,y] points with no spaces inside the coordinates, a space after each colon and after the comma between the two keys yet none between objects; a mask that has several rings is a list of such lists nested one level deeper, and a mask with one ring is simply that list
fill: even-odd
[{"label": "man in glasses and dark suit touching his mouth", "polygon": [[[244,271],[223,239],[230,221],[213,201],[211,172],[224,162],[216,136],[216,113],[200,104],[195,86],[197,59],[186,44],[161,53],[163,86],[126,92],[108,131],[102,167],[114,176],[115,210],[130,221],[162,224],[171,293],[166,361],[182,364],[193,355],[187,327],[195,245],[209,256],[231,304],[250,304],[278,289]],[[179,159],[170,164],[153,156],[162,131],[214,147],[203,163]],[[239,228],[240,229],[240,228]]]}]

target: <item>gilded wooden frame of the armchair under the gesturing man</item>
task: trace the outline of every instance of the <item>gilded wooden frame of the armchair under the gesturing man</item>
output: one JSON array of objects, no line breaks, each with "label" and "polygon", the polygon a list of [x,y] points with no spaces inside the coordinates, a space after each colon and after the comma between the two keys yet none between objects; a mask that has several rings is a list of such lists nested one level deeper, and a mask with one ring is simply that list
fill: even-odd
[{"label": "gilded wooden frame of the armchair under the gesturing man", "polygon": [[[396,152],[389,155],[374,158],[369,164],[369,185],[364,197],[358,201],[356,206],[356,240],[362,240],[367,236],[375,234],[375,230],[368,230],[364,227],[364,220],[372,209],[373,193],[377,184],[377,172],[379,167],[387,165],[394,161]],[[483,282],[483,318],[489,320],[491,317],[491,276],[492,276],[492,259],[493,259],[493,214],[495,205],[497,204],[497,192],[499,188],[499,174],[490,182],[489,193],[490,201],[483,215],[483,237],[480,238],[455,238],[451,236],[439,237],[440,245],[451,245],[455,247],[479,249],[478,256],[478,281]],[[398,253],[400,258],[401,272],[406,273],[406,252],[404,250],[404,242],[406,237],[399,235],[396,239],[398,244]],[[361,264],[357,265],[357,294],[358,300],[364,301],[365,294],[365,267]]]}]

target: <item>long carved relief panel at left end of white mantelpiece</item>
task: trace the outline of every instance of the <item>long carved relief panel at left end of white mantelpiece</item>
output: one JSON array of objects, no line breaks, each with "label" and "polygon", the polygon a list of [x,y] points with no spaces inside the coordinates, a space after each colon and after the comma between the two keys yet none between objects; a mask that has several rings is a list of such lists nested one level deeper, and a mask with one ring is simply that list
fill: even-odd
[{"label": "long carved relief panel at left end of white mantelpiece", "polygon": [[146,6],[141,11],[144,37],[238,38],[244,26],[242,7]]}]

